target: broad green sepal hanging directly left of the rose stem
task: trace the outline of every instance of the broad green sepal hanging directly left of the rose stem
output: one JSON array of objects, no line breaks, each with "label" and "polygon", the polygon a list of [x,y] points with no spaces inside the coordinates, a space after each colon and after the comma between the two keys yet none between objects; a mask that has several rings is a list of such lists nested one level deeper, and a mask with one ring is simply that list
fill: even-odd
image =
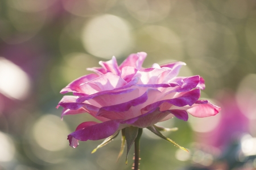
[{"label": "broad green sepal hanging directly left of the rose stem", "polygon": [[133,127],[133,126],[125,128],[125,138],[126,138],[126,144],[127,144],[127,153],[126,153],[126,162],[125,162],[126,164],[128,163],[127,162],[128,153],[138,135],[138,130],[139,130],[138,127]]}]

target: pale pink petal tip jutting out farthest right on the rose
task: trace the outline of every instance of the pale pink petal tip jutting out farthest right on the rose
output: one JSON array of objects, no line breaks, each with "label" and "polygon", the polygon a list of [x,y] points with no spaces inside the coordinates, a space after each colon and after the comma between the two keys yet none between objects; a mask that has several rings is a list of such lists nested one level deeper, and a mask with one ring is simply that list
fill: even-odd
[{"label": "pale pink petal tip jutting out farthest right on the rose", "polygon": [[[205,102],[205,101],[204,101]],[[221,110],[221,107],[213,105],[208,101],[206,104],[194,104],[188,109],[188,113],[194,117],[204,118],[216,115]]]}]

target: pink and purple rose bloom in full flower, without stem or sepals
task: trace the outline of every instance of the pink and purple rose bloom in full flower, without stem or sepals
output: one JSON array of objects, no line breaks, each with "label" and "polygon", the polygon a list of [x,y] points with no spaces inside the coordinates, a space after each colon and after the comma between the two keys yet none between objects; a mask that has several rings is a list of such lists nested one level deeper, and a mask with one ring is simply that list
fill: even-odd
[{"label": "pink and purple rose bloom in full flower, without stem or sepals", "polygon": [[[216,115],[220,107],[207,100],[199,100],[204,79],[200,76],[176,77],[183,62],[153,64],[142,68],[146,53],[131,54],[118,66],[115,57],[100,61],[100,68],[89,68],[97,74],[77,78],[61,94],[61,117],[68,114],[89,113],[102,123],[82,122],[68,135],[70,146],[78,140],[108,138],[126,127],[151,127],[172,117],[188,120]],[[187,113],[188,112],[188,113]]]}]

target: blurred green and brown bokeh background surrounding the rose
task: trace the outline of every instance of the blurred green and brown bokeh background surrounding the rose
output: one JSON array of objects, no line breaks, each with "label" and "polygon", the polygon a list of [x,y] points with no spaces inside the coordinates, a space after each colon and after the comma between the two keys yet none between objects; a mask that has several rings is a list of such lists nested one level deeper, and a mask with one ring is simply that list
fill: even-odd
[{"label": "blurred green and brown bokeh background surrounding the rose", "polygon": [[222,107],[210,118],[176,118],[166,135],[189,154],[144,130],[140,169],[256,169],[256,1],[1,0],[0,169],[131,169],[117,162],[121,138],[69,147],[87,114],[60,119],[69,82],[114,55],[147,52],[143,67],[184,61],[200,74],[202,98]]}]

